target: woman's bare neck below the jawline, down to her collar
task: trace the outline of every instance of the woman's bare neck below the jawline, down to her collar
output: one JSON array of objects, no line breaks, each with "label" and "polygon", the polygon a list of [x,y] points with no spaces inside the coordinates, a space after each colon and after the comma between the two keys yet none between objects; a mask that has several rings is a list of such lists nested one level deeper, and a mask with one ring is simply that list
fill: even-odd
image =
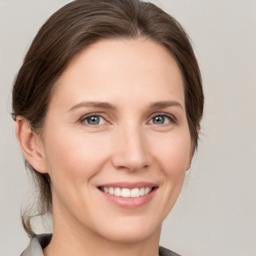
[{"label": "woman's bare neck below the jawline, down to her collar", "polygon": [[70,221],[54,220],[52,239],[44,256],[158,256],[161,226],[141,240],[107,239]]}]

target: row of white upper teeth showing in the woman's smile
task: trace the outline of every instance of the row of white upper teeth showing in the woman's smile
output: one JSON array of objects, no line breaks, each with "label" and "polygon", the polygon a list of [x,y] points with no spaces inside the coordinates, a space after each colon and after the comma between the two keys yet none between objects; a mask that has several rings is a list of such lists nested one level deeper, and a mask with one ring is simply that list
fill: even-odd
[{"label": "row of white upper teeth showing in the woman's smile", "polygon": [[142,195],[148,194],[152,187],[136,187],[136,188],[119,188],[119,187],[106,187],[101,186],[100,189],[105,193],[113,194],[115,196],[122,196],[122,197],[139,197]]}]

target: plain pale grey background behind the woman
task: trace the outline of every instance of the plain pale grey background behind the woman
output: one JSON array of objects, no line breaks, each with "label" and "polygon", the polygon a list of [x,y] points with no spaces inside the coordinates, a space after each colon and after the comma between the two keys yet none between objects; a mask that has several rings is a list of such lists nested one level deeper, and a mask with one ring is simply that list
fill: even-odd
[{"label": "plain pale grey background behind the woman", "polygon": [[[0,256],[19,255],[29,241],[19,216],[30,183],[9,116],[12,80],[39,26],[67,2],[0,0]],[[255,256],[256,1],[152,2],[187,30],[205,90],[198,153],[160,244],[184,256]]]}]

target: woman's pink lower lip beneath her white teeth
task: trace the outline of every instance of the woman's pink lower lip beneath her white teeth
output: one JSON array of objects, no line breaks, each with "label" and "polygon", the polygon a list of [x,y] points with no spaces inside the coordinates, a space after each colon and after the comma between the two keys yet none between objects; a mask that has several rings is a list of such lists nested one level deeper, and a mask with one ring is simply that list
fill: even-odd
[{"label": "woman's pink lower lip beneath her white teeth", "polygon": [[98,189],[98,190],[111,203],[114,203],[114,204],[116,204],[120,207],[124,207],[124,208],[137,208],[137,207],[140,207],[140,206],[144,205],[145,203],[149,202],[153,198],[155,191],[157,190],[157,187],[154,187],[154,189],[152,189],[150,193],[148,193],[146,195],[141,195],[139,197],[116,196],[113,194],[103,192],[100,189]]}]

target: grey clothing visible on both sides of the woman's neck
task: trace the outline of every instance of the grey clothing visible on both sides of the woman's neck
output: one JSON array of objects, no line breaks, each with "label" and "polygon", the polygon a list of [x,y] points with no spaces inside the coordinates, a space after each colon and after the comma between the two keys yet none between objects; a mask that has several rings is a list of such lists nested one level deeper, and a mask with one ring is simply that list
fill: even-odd
[{"label": "grey clothing visible on both sides of the woman's neck", "polygon": [[[52,234],[36,234],[30,240],[27,248],[20,254],[20,256],[43,256],[42,249],[46,247]],[[159,246],[159,256],[181,256],[169,249]]]}]

